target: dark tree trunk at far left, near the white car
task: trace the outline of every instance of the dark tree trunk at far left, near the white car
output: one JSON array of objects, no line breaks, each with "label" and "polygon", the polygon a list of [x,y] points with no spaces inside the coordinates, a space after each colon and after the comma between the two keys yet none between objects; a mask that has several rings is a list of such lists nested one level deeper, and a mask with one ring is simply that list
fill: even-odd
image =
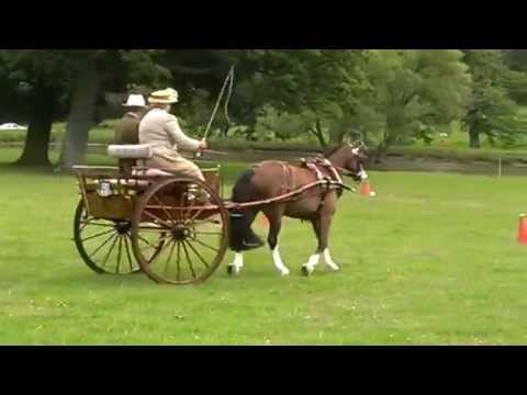
[{"label": "dark tree trunk at far left, near the white car", "polygon": [[53,98],[40,98],[34,104],[22,156],[16,166],[52,166],[49,161],[49,138],[53,126]]}]

